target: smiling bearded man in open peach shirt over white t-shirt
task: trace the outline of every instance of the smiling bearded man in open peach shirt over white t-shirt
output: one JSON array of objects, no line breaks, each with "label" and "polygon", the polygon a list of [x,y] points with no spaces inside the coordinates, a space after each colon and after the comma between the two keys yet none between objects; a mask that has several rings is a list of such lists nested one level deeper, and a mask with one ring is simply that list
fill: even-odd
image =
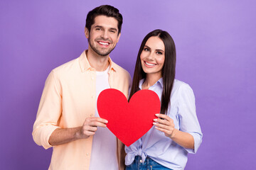
[{"label": "smiling bearded man in open peach shirt over white t-shirt", "polygon": [[129,73],[110,59],[121,27],[117,8],[105,5],[90,11],[85,25],[88,50],[53,69],[46,79],[32,135],[38,145],[53,147],[49,169],[124,169],[124,145],[96,108],[104,89],[128,96]]}]

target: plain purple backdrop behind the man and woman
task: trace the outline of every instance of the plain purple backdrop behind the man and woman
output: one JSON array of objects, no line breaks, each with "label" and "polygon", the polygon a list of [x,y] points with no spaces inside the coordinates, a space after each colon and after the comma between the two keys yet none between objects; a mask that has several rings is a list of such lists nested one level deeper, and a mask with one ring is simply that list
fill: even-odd
[{"label": "plain purple backdrop behind the man and woman", "polygon": [[110,4],[124,16],[114,62],[134,72],[139,45],[167,30],[177,49],[176,79],[196,94],[203,143],[186,169],[256,169],[255,1],[0,2],[0,167],[48,169],[51,149],[32,139],[50,70],[87,48],[87,12]]}]

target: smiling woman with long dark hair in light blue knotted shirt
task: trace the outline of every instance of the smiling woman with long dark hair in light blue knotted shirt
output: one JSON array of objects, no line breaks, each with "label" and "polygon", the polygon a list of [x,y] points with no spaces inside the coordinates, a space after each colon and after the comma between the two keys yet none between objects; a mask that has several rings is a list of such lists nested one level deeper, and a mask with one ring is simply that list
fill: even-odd
[{"label": "smiling woman with long dark hair in light blue knotted shirt", "polygon": [[196,117],[193,91],[174,79],[176,49],[171,35],[154,30],[142,41],[129,99],[140,89],[161,98],[161,111],[154,126],[139,140],[125,147],[130,169],[184,169],[188,153],[196,153],[202,132]]}]

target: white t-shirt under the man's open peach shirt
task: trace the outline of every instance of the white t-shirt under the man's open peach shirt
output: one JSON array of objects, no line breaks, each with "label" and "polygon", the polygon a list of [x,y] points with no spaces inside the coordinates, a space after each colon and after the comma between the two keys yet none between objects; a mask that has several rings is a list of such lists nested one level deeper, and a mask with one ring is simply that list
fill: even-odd
[{"label": "white t-shirt under the man's open peach shirt", "polygon": [[[109,75],[107,73],[109,69],[110,67],[108,67],[104,72],[96,72],[97,97],[101,91],[110,89],[110,84],[108,81]],[[99,117],[97,109],[95,110],[95,117]],[[98,169],[118,170],[117,138],[108,128],[97,127],[97,131],[95,132],[92,140],[90,170]]]}]

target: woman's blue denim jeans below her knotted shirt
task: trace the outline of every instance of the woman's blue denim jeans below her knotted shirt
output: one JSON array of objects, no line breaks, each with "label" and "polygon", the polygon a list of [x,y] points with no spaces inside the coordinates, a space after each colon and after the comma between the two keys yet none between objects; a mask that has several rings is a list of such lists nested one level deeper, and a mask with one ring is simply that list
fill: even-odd
[{"label": "woman's blue denim jeans below her knotted shirt", "polygon": [[[142,163],[142,157],[136,156],[134,162],[126,167],[126,170],[170,170],[155,162],[153,159],[146,157],[144,163]],[[172,169],[171,169],[172,170]]]}]

